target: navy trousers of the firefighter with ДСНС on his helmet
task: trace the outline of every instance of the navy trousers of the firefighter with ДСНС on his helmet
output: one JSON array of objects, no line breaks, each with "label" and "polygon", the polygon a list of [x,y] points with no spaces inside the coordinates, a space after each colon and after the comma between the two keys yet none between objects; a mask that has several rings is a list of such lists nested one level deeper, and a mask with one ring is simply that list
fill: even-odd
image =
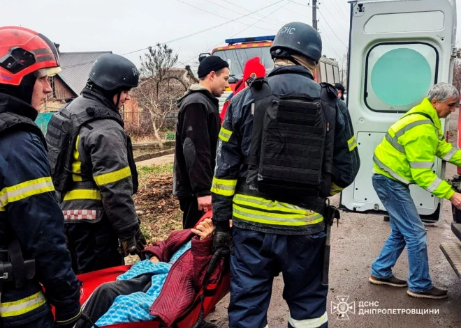
[{"label": "navy trousers of the firefighter with \u0414\u0421\u041d\u0421 on his helmet", "polygon": [[229,328],[268,327],[274,276],[284,279],[288,328],[328,327],[321,285],[323,242],[319,235],[275,235],[233,227]]}]

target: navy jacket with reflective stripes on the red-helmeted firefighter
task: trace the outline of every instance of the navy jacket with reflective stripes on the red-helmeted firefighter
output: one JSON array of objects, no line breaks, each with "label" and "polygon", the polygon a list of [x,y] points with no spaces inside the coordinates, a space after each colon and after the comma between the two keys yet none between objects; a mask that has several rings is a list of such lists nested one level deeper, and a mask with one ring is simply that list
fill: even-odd
[{"label": "navy jacket with reflective stripes on the red-helmeted firefighter", "polygon": [[[17,237],[24,259],[36,263],[35,278],[24,288],[3,283],[3,327],[34,322],[49,313],[48,303],[56,306],[58,319],[73,318],[80,311],[80,283],[71,270],[64,219],[36,116],[29,104],[0,93],[0,250]],[[8,260],[0,254],[0,260]]]}]

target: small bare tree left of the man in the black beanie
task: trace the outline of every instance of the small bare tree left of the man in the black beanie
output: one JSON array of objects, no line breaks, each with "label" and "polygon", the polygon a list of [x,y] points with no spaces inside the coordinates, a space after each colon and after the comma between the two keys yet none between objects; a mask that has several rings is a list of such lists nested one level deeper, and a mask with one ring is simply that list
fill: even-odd
[{"label": "small bare tree left of the man in the black beanie", "polygon": [[175,70],[178,55],[167,45],[157,44],[149,47],[144,56],[140,56],[141,82],[133,91],[141,108],[149,111],[155,139],[163,149],[159,135],[166,117],[176,109],[176,100],[189,87],[185,79],[185,70]]}]

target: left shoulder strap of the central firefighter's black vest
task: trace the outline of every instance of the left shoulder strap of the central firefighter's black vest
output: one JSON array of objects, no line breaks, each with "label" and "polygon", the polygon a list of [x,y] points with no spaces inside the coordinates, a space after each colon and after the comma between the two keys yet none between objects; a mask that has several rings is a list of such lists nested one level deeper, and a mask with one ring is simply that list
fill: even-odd
[{"label": "left shoulder strap of the central firefighter's black vest", "polygon": [[261,149],[265,111],[274,99],[274,95],[272,94],[268,80],[265,78],[258,78],[251,82],[250,90],[254,97],[254,102],[251,104],[251,114],[254,116],[253,134],[251,136],[250,154],[244,158],[243,163],[256,166],[259,164],[258,155]]}]

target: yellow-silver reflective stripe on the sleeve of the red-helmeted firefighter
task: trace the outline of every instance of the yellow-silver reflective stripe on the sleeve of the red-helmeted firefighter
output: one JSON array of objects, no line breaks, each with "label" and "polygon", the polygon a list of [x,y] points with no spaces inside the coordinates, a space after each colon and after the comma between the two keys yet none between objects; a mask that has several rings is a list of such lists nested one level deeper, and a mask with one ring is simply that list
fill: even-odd
[{"label": "yellow-silver reflective stripe on the sleeve of the red-helmeted firefighter", "polygon": [[1,190],[0,206],[5,207],[8,203],[52,191],[54,191],[54,186],[49,176],[22,182],[19,185],[5,187]]}]

